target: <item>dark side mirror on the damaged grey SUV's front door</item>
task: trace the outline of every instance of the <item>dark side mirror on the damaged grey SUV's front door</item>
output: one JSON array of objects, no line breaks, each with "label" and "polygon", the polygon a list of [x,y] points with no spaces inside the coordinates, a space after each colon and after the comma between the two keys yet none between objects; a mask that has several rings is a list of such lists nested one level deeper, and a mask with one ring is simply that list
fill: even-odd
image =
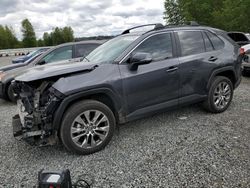
[{"label": "dark side mirror on the damaged grey SUV's front door", "polygon": [[129,69],[137,70],[139,65],[145,65],[152,62],[153,57],[150,53],[138,52],[131,56]]}]

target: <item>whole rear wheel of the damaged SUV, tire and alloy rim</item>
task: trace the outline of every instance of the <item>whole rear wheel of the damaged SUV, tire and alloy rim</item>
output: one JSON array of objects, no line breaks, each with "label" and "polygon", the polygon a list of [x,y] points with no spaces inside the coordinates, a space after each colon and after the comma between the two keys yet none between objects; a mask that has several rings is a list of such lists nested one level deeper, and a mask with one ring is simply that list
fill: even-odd
[{"label": "whole rear wheel of the damaged SUV, tire and alloy rim", "polygon": [[[224,89],[220,91],[220,88]],[[217,76],[210,86],[208,98],[204,101],[203,107],[212,113],[222,113],[230,106],[233,99],[233,92],[231,80],[224,76]]]}]

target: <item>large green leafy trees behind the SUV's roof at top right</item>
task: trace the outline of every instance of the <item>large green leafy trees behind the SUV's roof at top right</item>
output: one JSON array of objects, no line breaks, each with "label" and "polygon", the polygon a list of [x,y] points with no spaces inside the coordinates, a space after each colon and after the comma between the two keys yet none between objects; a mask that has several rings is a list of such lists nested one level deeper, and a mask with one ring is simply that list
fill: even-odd
[{"label": "large green leafy trees behind the SUV's roof at top right", "polygon": [[249,0],[165,0],[167,24],[197,21],[226,31],[250,32]]}]

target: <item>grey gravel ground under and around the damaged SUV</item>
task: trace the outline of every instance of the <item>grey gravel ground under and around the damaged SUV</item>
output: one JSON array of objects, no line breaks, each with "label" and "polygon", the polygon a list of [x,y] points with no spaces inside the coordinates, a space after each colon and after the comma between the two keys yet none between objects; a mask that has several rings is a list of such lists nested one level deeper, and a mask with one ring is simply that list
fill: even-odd
[{"label": "grey gravel ground under and around the damaged SUV", "polygon": [[[0,58],[0,66],[7,60]],[[0,100],[0,187],[31,187],[42,168],[69,168],[73,180],[93,180],[93,187],[250,187],[250,77],[225,113],[193,105],[127,123],[89,156],[16,141],[15,113],[15,105]]]}]

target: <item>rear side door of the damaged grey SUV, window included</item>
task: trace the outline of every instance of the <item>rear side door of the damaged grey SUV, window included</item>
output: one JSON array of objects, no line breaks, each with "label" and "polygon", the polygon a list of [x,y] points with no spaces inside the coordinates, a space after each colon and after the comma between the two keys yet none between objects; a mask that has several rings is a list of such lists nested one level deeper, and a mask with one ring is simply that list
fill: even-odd
[{"label": "rear side door of the damaged grey SUV, window included", "polygon": [[[210,32],[207,32],[210,33]],[[213,35],[211,33],[211,35]],[[199,100],[207,94],[206,87],[212,70],[217,66],[220,51],[204,31],[182,30],[176,32],[180,49],[180,103]],[[215,36],[216,37],[216,36]],[[217,37],[218,38],[218,37]],[[219,39],[217,43],[220,43]]]}]

